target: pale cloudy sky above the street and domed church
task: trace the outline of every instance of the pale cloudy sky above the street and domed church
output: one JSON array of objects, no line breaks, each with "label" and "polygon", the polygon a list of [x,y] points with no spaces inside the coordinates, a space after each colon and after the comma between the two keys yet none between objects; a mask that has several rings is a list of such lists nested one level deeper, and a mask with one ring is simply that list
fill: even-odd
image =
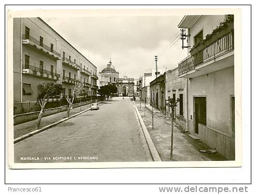
[{"label": "pale cloudy sky above the street and domed church", "polygon": [[[186,57],[181,49],[183,16],[132,16],[42,18],[101,71],[106,64],[130,78],[143,76],[146,69],[173,69]],[[166,48],[166,49],[165,49]],[[168,49],[169,48],[169,49]]]}]

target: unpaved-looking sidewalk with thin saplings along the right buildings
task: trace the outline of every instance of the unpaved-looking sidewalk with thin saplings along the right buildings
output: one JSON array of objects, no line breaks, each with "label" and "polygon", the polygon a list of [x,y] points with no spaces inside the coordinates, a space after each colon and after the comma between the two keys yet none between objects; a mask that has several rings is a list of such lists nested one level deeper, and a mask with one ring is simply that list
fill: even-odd
[{"label": "unpaved-looking sidewalk with thin saplings along the right buildings", "polygon": [[[162,161],[170,161],[170,142],[171,142],[171,121],[157,109],[154,110],[154,129],[152,129],[152,107],[146,104],[146,116],[144,116],[144,103],[140,100],[134,101],[156,150]],[[210,149],[199,140],[192,139],[188,132],[174,123],[173,126],[173,161],[209,161],[226,160],[219,153],[202,153],[199,150]]]}]

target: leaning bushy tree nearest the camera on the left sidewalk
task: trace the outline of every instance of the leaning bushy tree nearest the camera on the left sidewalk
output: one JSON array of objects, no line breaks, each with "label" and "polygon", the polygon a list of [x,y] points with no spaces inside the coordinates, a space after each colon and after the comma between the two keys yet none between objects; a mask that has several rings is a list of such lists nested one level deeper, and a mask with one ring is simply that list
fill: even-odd
[{"label": "leaning bushy tree nearest the camera on the left sidewalk", "polygon": [[41,118],[45,111],[45,105],[51,96],[58,96],[62,93],[62,85],[54,82],[44,82],[37,85],[37,99],[41,106],[41,111],[37,118],[35,129],[37,130],[41,123]]}]

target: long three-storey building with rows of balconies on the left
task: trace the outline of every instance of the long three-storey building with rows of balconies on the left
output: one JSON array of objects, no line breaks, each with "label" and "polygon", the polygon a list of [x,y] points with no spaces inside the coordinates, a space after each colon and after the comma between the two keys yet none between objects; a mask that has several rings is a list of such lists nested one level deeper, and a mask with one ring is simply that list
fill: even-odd
[{"label": "long three-storey building with rows of balconies on the left", "polygon": [[62,83],[62,97],[84,84],[97,94],[97,67],[41,18],[14,19],[14,102],[37,101],[37,84]]}]

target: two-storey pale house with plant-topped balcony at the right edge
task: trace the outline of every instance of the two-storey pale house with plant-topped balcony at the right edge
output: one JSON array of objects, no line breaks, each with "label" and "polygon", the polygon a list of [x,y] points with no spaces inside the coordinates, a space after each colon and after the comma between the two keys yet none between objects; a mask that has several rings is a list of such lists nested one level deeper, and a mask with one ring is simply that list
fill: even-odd
[{"label": "two-storey pale house with plant-topped balcony at the right edge", "polygon": [[188,82],[188,131],[235,159],[233,15],[185,16],[178,27],[186,28],[191,46],[179,63]]}]

